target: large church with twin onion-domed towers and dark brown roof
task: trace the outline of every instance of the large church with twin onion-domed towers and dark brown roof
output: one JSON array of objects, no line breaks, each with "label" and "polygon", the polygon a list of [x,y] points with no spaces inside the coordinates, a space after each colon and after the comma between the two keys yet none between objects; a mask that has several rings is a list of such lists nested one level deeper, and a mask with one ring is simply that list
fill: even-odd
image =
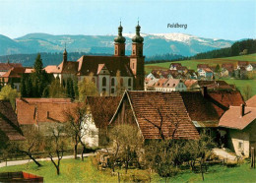
[{"label": "large church with twin onion-domed towers and dark brown roof", "polygon": [[123,27],[118,27],[118,35],[114,38],[114,55],[96,56],[83,55],[77,61],[67,60],[66,48],[63,52],[63,61],[58,65],[49,65],[45,71],[53,76],[59,77],[60,81],[68,78],[78,77],[83,81],[92,77],[99,93],[116,95],[117,86],[122,91],[144,91],[144,62],[143,41],[140,35],[141,27],[136,26],[136,34],[132,38],[132,54],[125,55],[126,38],[122,35]]}]

